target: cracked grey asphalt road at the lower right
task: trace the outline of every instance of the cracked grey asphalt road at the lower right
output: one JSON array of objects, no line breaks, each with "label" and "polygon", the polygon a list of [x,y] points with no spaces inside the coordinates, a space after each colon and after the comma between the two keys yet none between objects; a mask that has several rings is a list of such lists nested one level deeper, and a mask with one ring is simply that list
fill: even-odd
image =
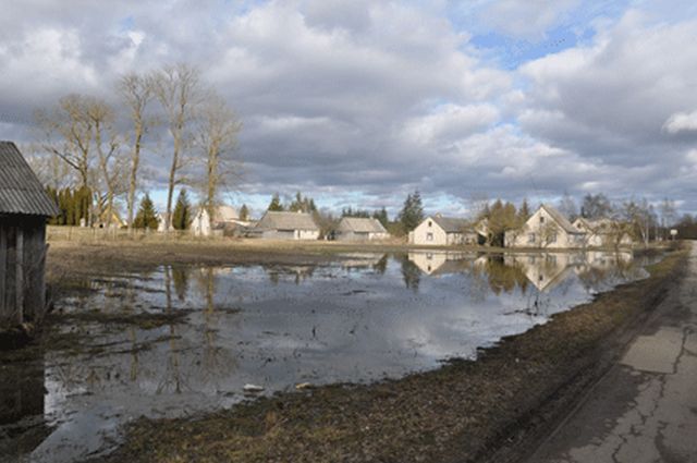
[{"label": "cracked grey asphalt road at the lower right", "polygon": [[697,462],[697,245],[656,314],[528,462]]}]

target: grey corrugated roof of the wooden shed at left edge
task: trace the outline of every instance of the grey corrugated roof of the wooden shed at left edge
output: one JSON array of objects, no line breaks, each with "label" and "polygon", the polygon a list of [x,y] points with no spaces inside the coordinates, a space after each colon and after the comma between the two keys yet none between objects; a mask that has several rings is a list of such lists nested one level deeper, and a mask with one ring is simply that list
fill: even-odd
[{"label": "grey corrugated roof of the wooden shed at left edge", "polygon": [[0,142],[0,214],[51,217],[58,207],[12,142]]}]

